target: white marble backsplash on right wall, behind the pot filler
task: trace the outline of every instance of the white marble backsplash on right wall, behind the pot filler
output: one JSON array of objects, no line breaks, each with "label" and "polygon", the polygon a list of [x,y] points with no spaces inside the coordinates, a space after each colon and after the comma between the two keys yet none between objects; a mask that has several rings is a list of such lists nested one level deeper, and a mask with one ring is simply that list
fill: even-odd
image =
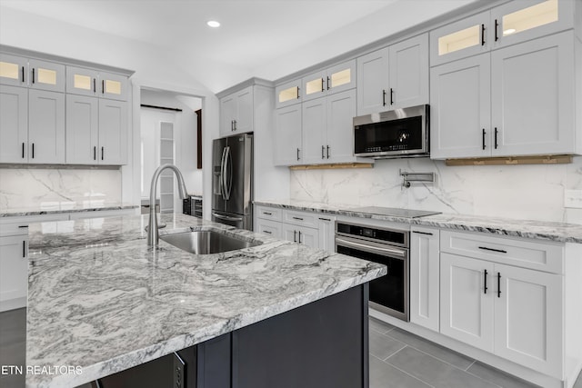
[{"label": "white marble backsplash on right wall, behind the pot filler", "polygon": [[[402,187],[399,169],[434,172],[434,184]],[[582,157],[572,164],[447,166],[422,159],[378,160],[374,168],[295,170],[293,200],[436,210],[582,224],[582,209],[564,206],[565,190],[582,190]]]}]

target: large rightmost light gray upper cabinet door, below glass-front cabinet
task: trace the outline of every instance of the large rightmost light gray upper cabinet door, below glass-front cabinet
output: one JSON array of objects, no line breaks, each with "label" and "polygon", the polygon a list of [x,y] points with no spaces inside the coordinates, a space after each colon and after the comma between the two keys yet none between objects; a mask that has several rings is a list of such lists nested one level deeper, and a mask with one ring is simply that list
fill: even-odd
[{"label": "large rightmost light gray upper cabinet door, below glass-front cabinet", "polygon": [[568,31],[491,54],[493,155],[575,152],[573,47]]}]

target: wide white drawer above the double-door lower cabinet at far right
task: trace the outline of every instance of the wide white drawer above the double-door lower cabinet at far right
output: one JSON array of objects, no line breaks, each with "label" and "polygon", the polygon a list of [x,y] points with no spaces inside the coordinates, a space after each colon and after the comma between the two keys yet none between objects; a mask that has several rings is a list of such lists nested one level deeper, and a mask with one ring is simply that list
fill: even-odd
[{"label": "wide white drawer above the double-door lower cabinet at far right", "polygon": [[564,244],[441,230],[441,252],[562,274]]}]

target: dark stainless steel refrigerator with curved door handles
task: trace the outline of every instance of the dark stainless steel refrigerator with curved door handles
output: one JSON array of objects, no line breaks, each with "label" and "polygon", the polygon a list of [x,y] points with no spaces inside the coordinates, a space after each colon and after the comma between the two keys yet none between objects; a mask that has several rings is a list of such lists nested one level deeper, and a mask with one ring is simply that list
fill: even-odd
[{"label": "dark stainless steel refrigerator with curved door handles", "polygon": [[253,230],[253,134],[212,144],[212,221]]}]

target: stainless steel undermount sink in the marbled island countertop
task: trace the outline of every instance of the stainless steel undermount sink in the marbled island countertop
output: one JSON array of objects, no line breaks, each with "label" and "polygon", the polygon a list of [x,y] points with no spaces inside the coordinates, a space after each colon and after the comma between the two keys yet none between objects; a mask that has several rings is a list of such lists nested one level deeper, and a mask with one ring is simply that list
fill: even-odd
[{"label": "stainless steel undermount sink in the marbled island countertop", "polygon": [[191,254],[220,254],[261,244],[244,237],[226,235],[212,230],[165,234],[160,235],[160,240]]}]

